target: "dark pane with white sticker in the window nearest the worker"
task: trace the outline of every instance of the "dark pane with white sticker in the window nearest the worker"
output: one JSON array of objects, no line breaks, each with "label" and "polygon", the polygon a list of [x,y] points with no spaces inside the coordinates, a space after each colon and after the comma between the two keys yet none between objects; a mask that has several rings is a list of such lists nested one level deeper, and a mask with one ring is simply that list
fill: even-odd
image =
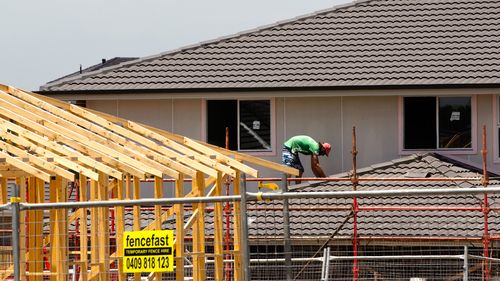
[{"label": "dark pane with white sticker in the window nearest the worker", "polygon": [[271,149],[271,105],[269,100],[240,101],[240,149]]}]

